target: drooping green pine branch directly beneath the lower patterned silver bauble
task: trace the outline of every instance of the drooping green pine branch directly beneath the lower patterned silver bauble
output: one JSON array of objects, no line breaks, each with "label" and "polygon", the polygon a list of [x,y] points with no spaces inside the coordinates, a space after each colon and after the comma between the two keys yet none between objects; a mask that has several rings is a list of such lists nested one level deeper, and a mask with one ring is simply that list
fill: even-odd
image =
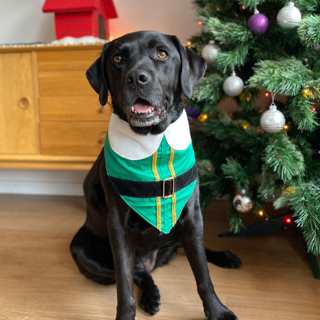
[{"label": "drooping green pine branch directly beneath the lower patterned silver bauble", "polygon": [[262,157],[264,163],[284,181],[303,174],[304,158],[301,151],[285,134],[268,134],[269,143]]}]

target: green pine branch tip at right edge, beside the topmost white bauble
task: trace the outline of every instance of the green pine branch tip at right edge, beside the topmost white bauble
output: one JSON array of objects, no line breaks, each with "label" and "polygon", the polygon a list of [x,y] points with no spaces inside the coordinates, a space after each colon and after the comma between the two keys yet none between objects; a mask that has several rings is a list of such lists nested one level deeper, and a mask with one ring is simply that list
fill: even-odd
[{"label": "green pine branch tip at right edge, beside the topmost white bauble", "polygon": [[301,19],[298,26],[298,35],[302,44],[311,47],[320,43],[320,16],[310,15]]}]

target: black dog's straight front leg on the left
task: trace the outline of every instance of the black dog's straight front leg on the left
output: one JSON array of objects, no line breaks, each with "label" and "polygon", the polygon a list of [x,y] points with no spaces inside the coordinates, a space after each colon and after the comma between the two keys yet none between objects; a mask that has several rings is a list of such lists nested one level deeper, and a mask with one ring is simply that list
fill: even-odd
[{"label": "black dog's straight front leg on the left", "polygon": [[117,285],[116,320],[134,320],[136,305],[133,298],[133,268],[137,234],[124,229],[117,209],[109,211],[108,231]]}]

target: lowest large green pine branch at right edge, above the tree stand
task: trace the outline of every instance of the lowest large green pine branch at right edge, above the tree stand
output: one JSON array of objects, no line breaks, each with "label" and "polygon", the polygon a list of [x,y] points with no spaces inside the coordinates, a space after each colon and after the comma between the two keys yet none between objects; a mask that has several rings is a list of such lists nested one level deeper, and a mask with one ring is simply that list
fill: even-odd
[{"label": "lowest large green pine branch at right edge, above the tree stand", "polygon": [[320,254],[320,184],[303,183],[300,186],[287,188],[274,202],[276,209],[291,205],[293,217],[302,228],[308,250]]}]

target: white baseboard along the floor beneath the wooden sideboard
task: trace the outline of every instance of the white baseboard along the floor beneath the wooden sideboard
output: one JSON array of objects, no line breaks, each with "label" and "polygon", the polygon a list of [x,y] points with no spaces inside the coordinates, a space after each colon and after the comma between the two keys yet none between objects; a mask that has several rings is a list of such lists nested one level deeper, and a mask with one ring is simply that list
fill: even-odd
[{"label": "white baseboard along the floor beneath the wooden sideboard", "polygon": [[0,193],[83,196],[84,170],[0,169]]}]

